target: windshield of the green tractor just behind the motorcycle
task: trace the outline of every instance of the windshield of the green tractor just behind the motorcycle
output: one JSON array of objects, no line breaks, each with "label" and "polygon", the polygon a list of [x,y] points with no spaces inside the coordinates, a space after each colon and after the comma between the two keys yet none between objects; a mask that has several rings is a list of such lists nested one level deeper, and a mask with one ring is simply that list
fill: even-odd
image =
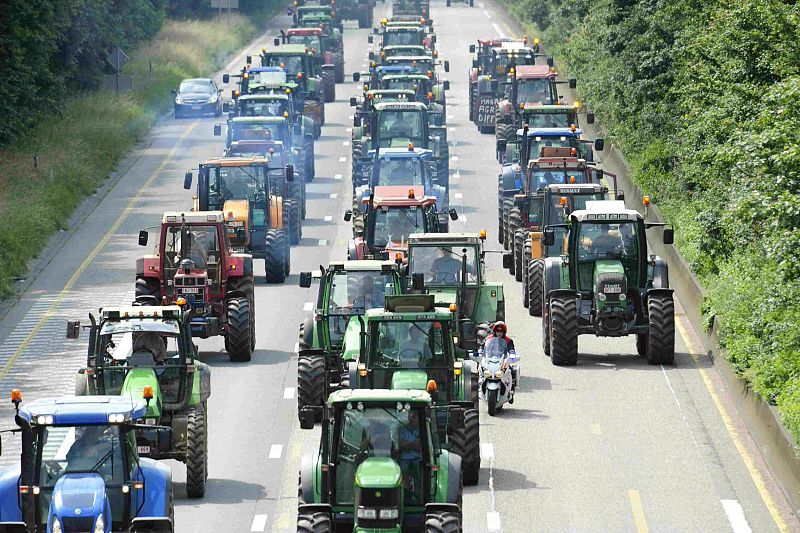
[{"label": "windshield of the green tractor just behind the motorcycle", "polygon": [[[463,258],[467,263],[464,268]],[[418,246],[409,250],[409,271],[422,274],[426,285],[461,285],[478,283],[478,250],[474,246]]]}]

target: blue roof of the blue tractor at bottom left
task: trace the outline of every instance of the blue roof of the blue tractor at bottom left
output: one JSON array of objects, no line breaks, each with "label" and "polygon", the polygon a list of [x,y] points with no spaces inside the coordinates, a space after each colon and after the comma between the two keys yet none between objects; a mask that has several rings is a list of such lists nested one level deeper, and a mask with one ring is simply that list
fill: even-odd
[{"label": "blue roof of the blue tractor at bottom left", "polygon": [[65,396],[34,400],[20,407],[19,414],[28,422],[39,417],[47,425],[107,425],[109,415],[123,415],[126,422],[144,416],[147,408],[142,399],[126,396]]}]

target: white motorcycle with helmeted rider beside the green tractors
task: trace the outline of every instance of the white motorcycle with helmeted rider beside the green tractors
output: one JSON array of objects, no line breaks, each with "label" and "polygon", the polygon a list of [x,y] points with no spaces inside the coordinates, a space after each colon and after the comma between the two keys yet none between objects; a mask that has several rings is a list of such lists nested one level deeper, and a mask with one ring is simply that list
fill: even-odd
[{"label": "white motorcycle with helmeted rider beside the green tractors", "polygon": [[514,403],[512,385],[519,372],[519,360],[513,350],[508,350],[506,341],[498,337],[486,339],[479,356],[478,386],[486,399],[489,416],[494,416],[504,404]]}]

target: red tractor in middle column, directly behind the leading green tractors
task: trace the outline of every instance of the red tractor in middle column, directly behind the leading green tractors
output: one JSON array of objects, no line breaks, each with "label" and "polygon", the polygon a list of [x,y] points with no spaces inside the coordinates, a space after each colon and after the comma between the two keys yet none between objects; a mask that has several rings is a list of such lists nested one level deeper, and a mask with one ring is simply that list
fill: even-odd
[{"label": "red tractor in middle column, directly behind the leading green tractors", "polygon": [[354,238],[347,243],[347,258],[351,260],[390,257],[402,260],[409,235],[441,233],[446,231],[447,216],[458,219],[455,209],[438,213],[436,198],[425,196],[420,186],[376,187],[362,204],[363,212],[348,209],[344,214],[345,221],[353,220]]}]

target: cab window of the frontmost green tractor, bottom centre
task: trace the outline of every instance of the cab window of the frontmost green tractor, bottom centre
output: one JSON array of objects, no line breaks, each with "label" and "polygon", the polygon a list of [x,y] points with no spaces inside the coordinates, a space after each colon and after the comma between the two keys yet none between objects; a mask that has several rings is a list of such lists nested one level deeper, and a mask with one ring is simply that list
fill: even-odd
[{"label": "cab window of the frontmost green tractor, bottom centre", "polygon": [[372,457],[389,457],[400,466],[405,503],[420,505],[429,435],[420,408],[399,402],[385,407],[352,402],[342,410],[336,430],[336,503],[353,504],[355,474]]}]

